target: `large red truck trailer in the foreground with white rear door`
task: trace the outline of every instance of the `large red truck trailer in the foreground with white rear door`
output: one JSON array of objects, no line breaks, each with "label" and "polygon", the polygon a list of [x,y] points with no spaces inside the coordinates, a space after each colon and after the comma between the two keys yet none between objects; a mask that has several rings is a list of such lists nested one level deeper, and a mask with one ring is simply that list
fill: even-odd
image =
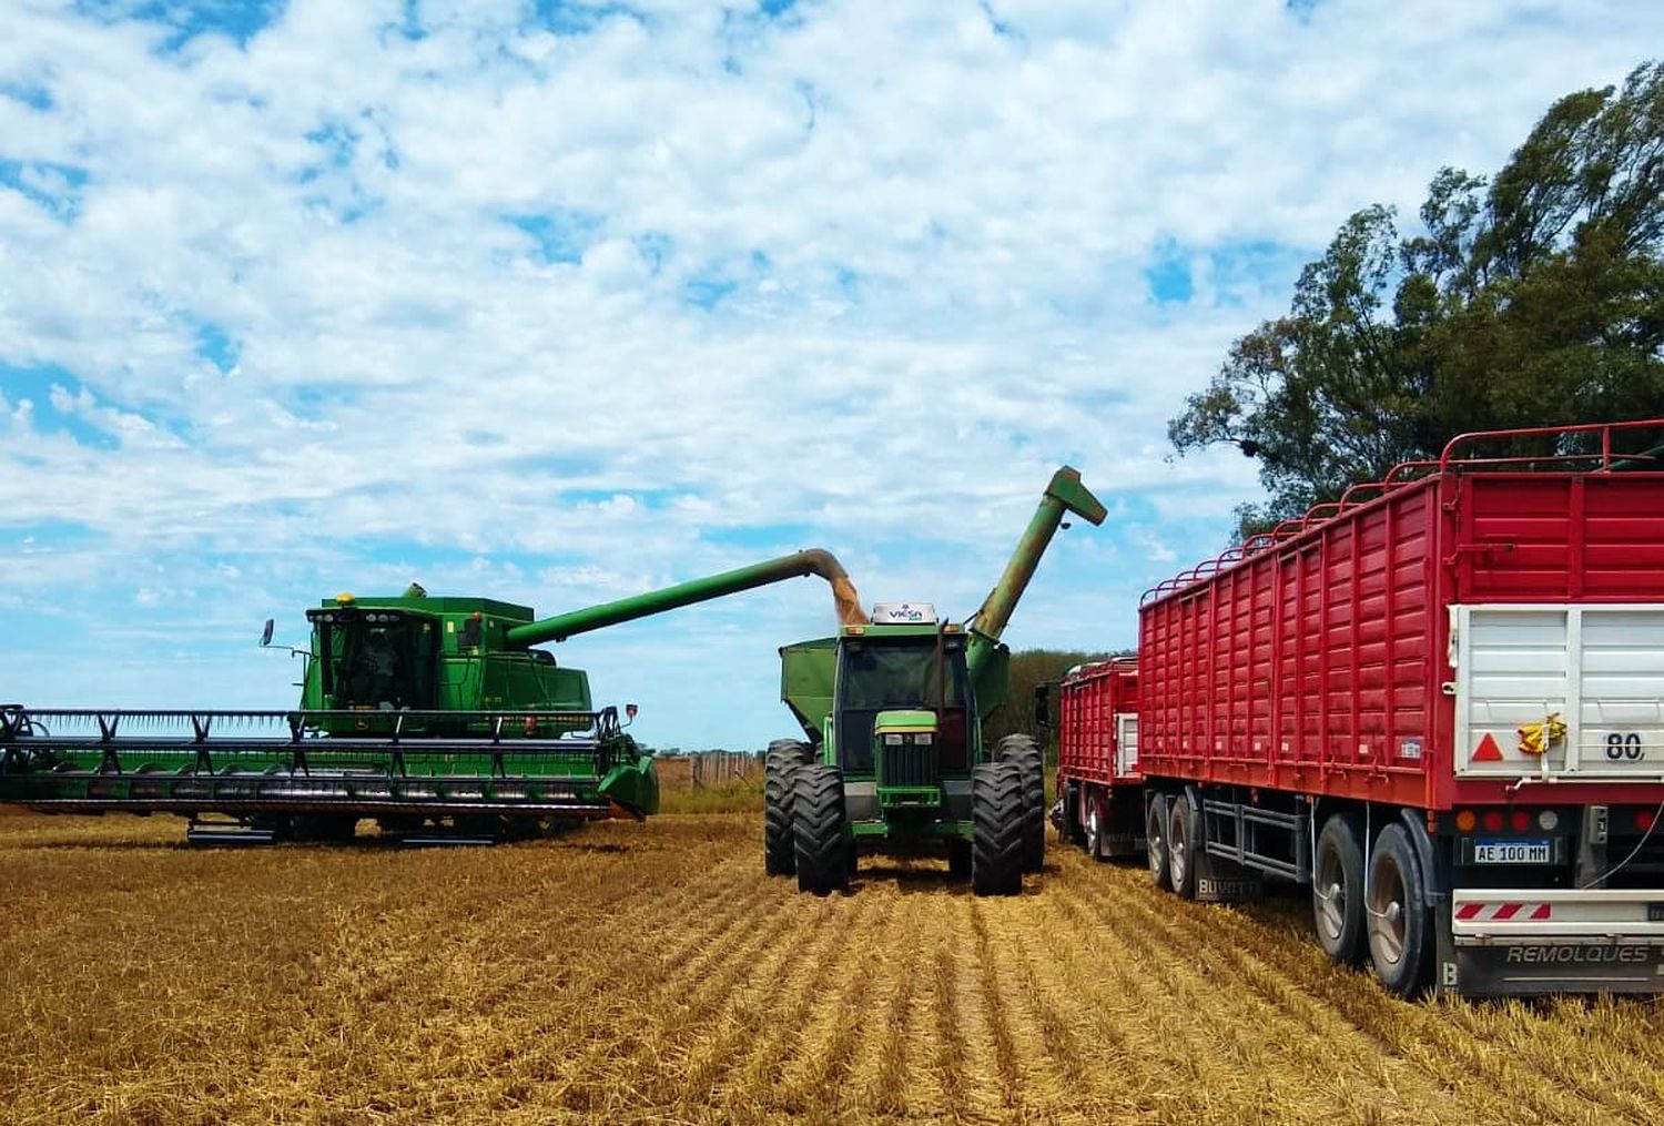
[{"label": "large red truck trailer in the foreground with white rear door", "polygon": [[1661,991],[1661,427],[1468,434],[1150,590],[1155,882],[1308,885],[1406,996]]}]

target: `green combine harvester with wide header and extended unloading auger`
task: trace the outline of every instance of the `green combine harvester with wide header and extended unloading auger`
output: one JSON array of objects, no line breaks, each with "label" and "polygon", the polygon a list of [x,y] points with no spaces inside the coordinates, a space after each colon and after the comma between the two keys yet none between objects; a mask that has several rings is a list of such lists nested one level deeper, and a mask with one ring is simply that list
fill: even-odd
[{"label": "green combine harvester with wide header and extended unloading auger", "polygon": [[659,808],[652,757],[617,709],[591,704],[581,669],[534,645],[797,575],[830,584],[840,622],[867,620],[824,551],[541,620],[418,585],[341,594],[306,610],[293,712],[0,707],[0,802],[180,813],[200,843],[338,840],[361,818],[411,842],[488,843],[646,817]]}]

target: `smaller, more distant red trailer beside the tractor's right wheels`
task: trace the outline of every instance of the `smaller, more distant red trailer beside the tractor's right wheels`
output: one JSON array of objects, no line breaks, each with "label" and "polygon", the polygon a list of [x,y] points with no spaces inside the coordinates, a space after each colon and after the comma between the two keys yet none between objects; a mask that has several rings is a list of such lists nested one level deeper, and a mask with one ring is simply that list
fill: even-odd
[{"label": "smaller, more distant red trailer beside the tractor's right wheels", "polygon": [[1097,860],[1143,850],[1138,659],[1070,669],[1058,690],[1058,832]]}]

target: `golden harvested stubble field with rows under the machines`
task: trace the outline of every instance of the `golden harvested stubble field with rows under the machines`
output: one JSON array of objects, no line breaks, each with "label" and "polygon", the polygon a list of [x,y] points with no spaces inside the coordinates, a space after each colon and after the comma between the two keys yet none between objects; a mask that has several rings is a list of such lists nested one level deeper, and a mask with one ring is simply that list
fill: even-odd
[{"label": "golden harvested stubble field with rows under the machines", "polygon": [[193,852],[0,812],[7,1123],[1652,1123],[1649,1001],[1406,1005],[1303,905],[1053,848],[1012,900],[867,862],[817,900],[757,815],[489,850]]}]

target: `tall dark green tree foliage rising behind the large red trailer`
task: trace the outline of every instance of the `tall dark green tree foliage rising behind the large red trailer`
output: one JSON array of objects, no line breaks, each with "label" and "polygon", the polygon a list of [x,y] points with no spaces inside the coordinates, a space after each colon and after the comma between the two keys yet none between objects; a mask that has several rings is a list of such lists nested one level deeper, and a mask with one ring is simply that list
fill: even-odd
[{"label": "tall dark green tree foliage rising behind the large red trailer", "polygon": [[1439,170],[1419,220],[1346,220],[1168,424],[1261,459],[1245,532],[1466,431],[1664,414],[1664,63],[1556,101],[1489,181]]}]

